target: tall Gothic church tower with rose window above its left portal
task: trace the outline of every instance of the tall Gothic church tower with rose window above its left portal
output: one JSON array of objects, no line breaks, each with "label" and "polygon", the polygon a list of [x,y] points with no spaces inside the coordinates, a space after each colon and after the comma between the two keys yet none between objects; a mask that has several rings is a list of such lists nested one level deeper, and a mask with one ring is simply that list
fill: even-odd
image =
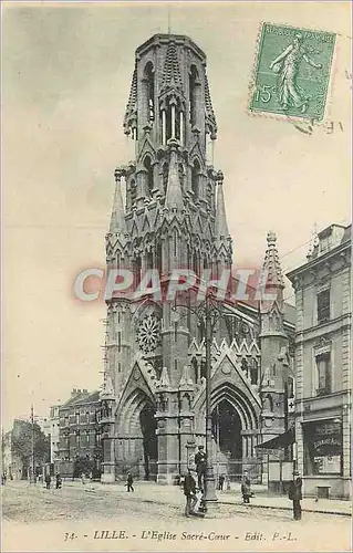
[{"label": "tall Gothic church tower with rose window above its left portal", "polygon": [[[135,144],[135,159],[115,171],[107,269],[133,271],[135,289],[148,270],[157,270],[163,292],[175,270],[215,275],[229,269],[224,175],[208,160],[217,124],[206,55],[190,39],[156,34],[136,50],[124,133]],[[105,378],[116,409],[115,426],[106,429],[116,436],[117,467],[142,458],[149,470],[158,459],[158,478],[167,479],[177,469],[170,467],[178,458],[177,435],[187,440],[191,432],[196,376],[188,347],[199,337],[197,322],[186,307],[148,293],[118,294],[106,303]],[[143,420],[136,413],[144,401]],[[139,420],[128,420],[134,413]]]}]

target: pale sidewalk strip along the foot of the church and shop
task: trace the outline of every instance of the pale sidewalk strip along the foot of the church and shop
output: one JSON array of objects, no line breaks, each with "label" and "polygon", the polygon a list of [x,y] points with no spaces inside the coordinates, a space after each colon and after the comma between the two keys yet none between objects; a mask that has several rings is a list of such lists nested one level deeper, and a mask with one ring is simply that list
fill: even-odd
[{"label": "pale sidewalk strip along the foot of the church and shop", "polygon": [[[65,482],[66,487],[81,487],[80,482]],[[134,493],[127,493],[124,482],[117,482],[115,484],[102,484],[100,482],[86,483],[85,490],[87,492],[106,492],[106,493],[117,493],[127,497],[134,497],[135,499],[141,499],[141,501],[146,503],[167,503],[173,505],[184,504],[184,494],[179,486],[163,486],[155,482],[141,482],[136,481],[134,483]],[[239,489],[233,486],[230,491],[217,491],[218,501],[225,505],[243,505],[242,498]],[[257,490],[257,488],[259,488]],[[250,507],[245,507],[247,509],[261,508],[261,509],[280,509],[280,510],[292,510],[291,502],[284,495],[268,495],[264,493],[263,487],[253,486],[252,491],[255,497],[251,498]],[[335,499],[319,499],[315,501],[313,498],[304,498],[302,500],[302,510],[304,512],[313,513],[325,513],[325,514],[336,514],[343,517],[352,517],[352,503],[351,501],[335,500]]]}]

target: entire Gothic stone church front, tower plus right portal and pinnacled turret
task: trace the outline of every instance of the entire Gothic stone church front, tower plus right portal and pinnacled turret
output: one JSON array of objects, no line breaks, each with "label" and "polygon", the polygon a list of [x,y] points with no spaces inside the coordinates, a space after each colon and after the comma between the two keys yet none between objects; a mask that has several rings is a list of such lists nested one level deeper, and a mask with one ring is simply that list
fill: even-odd
[{"label": "entire Gothic stone church front, tower plus right portal and pinnacled turret", "polygon": [[[216,278],[231,270],[224,175],[207,160],[217,125],[206,55],[190,39],[157,34],[136,50],[124,132],[136,155],[115,170],[107,270],[131,270],[138,284],[157,269],[162,288],[176,269],[208,269]],[[257,445],[287,429],[293,389],[294,327],[272,232],[263,268],[276,300],[221,304],[212,328],[212,455],[245,465]],[[205,333],[188,306],[191,291],[184,300],[106,300],[104,482],[136,467],[144,478],[170,482],[205,444]]]}]

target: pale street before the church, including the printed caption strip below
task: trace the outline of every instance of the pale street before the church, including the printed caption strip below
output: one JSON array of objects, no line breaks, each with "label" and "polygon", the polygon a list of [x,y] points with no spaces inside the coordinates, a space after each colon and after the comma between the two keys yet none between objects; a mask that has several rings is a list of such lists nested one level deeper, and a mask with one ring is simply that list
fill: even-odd
[{"label": "pale street before the church, including the printed caption strip below", "polygon": [[10,482],[2,551],[350,551],[349,517],[309,512],[298,523],[290,511],[219,504],[216,519],[185,519],[183,492],[154,488]]}]

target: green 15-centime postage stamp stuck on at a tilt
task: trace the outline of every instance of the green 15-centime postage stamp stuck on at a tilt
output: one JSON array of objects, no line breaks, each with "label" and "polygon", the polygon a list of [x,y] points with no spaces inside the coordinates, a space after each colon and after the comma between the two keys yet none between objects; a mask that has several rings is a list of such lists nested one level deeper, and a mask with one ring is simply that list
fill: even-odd
[{"label": "green 15-centime postage stamp stuck on at a tilt", "polygon": [[263,23],[250,111],[322,121],[335,34]]}]

